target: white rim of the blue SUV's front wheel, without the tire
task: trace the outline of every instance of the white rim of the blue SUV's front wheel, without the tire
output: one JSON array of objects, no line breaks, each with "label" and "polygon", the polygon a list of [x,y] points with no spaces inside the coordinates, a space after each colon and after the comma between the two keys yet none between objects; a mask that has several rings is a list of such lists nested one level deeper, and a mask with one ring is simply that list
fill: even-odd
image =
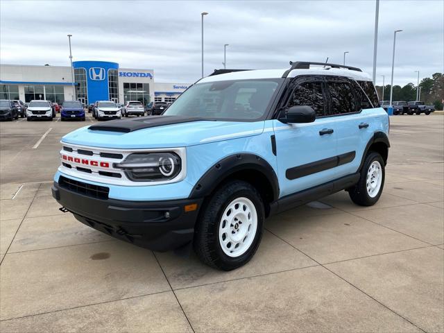
[{"label": "white rim of the blue SUV's front wheel, without the tire", "polygon": [[257,212],[253,202],[235,198],[227,205],[219,223],[219,244],[225,255],[239,257],[246,253],[255,239]]}]

